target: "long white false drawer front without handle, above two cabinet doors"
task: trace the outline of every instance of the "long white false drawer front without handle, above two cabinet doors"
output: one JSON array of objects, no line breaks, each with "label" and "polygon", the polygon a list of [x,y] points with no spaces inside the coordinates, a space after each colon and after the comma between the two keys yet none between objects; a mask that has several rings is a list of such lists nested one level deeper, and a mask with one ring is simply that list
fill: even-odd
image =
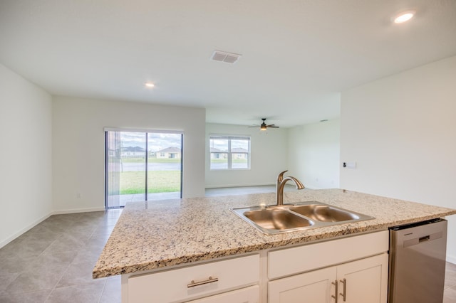
[{"label": "long white false drawer front without handle, above two cabinet doors", "polygon": [[388,230],[316,244],[274,250],[268,254],[268,277],[276,279],[388,251]]}]

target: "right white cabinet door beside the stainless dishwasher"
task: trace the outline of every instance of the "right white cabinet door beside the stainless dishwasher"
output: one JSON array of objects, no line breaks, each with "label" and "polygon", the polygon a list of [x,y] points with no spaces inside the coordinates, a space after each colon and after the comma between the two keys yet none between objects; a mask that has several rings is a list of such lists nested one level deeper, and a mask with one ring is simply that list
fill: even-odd
[{"label": "right white cabinet door beside the stainless dishwasher", "polygon": [[[349,262],[337,267],[338,302],[386,303],[388,254]],[[343,299],[345,279],[345,300]]]}]

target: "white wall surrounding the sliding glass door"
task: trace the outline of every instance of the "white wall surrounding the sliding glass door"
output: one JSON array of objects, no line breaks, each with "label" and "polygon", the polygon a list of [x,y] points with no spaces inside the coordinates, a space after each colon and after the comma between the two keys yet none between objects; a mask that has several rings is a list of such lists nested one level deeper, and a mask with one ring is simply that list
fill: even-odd
[{"label": "white wall surrounding the sliding glass door", "polygon": [[198,108],[54,97],[54,211],[104,209],[103,127],[183,131],[183,196],[204,196],[204,120]]}]

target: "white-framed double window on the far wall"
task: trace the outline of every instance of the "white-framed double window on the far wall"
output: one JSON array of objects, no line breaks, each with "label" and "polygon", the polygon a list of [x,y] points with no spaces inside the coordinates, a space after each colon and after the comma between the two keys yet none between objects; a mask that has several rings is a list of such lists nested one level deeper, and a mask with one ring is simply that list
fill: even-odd
[{"label": "white-framed double window on the far wall", "polygon": [[250,169],[250,137],[210,136],[210,169]]}]

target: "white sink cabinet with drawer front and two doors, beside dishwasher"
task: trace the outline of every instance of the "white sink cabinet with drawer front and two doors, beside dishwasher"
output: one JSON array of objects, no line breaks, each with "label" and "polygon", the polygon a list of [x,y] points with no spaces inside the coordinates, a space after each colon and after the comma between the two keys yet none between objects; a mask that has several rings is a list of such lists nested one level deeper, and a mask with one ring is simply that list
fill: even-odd
[{"label": "white sink cabinet with drawer front and two doors, beside dishwasher", "polygon": [[388,231],[272,250],[269,303],[386,303]]}]

